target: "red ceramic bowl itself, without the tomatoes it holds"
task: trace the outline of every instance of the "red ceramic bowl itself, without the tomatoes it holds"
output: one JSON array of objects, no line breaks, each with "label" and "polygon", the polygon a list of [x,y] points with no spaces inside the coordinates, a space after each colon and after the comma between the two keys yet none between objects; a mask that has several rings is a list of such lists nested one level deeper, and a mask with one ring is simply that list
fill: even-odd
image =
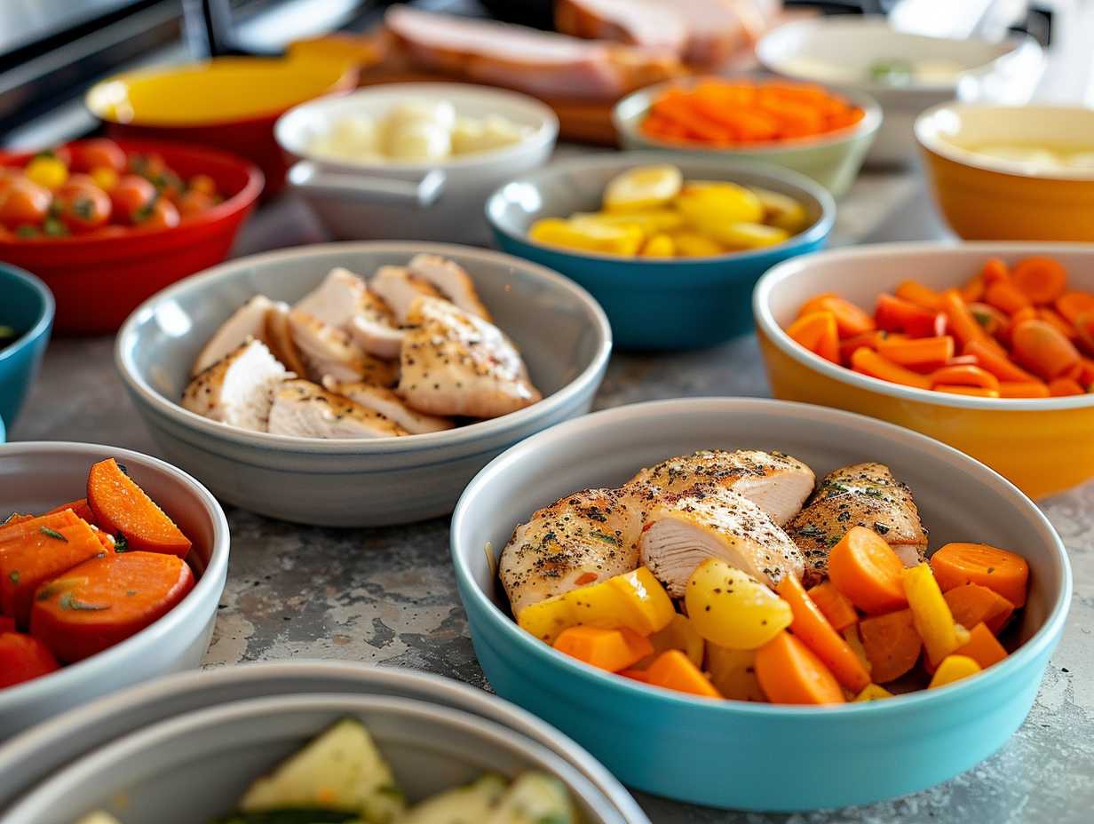
[{"label": "red ceramic bowl itself, without the tomatoes it holds", "polygon": [[[57,300],[55,334],[117,332],[139,304],[176,280],[221,263],[263,190],[263,173],[224,152],[174,143],[119,141],[127,153],[152,153],[184,178],[207,174],[224,195],[172,229],[116,234],[0,237],[0,260],[37,275]],[[0,153],[0,165],[23,165],[32,153]]]}]

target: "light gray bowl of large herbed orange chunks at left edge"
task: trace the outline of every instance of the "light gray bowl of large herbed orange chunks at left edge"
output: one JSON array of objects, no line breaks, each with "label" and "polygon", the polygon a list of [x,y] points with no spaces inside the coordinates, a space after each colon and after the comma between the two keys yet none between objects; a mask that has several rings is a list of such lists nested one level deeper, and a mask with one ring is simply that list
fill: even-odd
[{"label": "light gray bowl of large herbed orange chunks at left edge", "polygon": [[0,507],[0,740],[200,664],[229,552],[205,487],[129,450],[9,443]]}]

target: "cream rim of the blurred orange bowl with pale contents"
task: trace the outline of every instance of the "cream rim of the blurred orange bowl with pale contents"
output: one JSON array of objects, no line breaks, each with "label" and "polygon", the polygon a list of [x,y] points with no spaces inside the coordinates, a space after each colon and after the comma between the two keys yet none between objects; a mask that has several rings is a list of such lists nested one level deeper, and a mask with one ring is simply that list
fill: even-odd
[{"label": "cream rim of the blurred orange bowl with pale contents", "polygon": [[[1016,163],[1011,163],[1002,159],[980,154],[969,149],[964,149],[956,143],[939,135],[938,119],[946,113],[958,118],[967,112],[977,114],[996,114],[1001,116],[1019,115],[1020,117],[1036,117],[1038,114],[1052,113],[1075,113],[1079,117],[1086,117],[1094,128],[1094,109],[1085,106],[1066,106],[1049,104],[1031,104],[1025,106],[1006,105],[985,105],[968,104],[959,101],[947,101],[936,106],[931,106],[922,112],[912,125],[916,141],[919,146],[933,154],[939,155],[952,163],[956,163],[969,169],[977,169],[984,172],[1016,177],[1025,181],[1061,181],[1066,183],[1092,183],[1094,182],[1094,169],[1041,169],[1036,172],[1024,172]],[[958,128],[959,134],[959,128]]]}]

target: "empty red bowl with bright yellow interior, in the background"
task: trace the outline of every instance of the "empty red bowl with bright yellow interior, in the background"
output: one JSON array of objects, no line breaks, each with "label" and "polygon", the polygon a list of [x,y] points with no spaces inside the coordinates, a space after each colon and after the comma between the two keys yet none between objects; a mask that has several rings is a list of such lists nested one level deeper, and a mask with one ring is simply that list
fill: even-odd
[{"label": "empty red bowl with bright yellow interior, in the background", "polygon": [[288,169],[274,139],[277,118],[356,84],[356,69],[342,60],[219,57],[118,74],[92,86],[85,103],[116,139],[201,143],[246,158],[271,195]]}]

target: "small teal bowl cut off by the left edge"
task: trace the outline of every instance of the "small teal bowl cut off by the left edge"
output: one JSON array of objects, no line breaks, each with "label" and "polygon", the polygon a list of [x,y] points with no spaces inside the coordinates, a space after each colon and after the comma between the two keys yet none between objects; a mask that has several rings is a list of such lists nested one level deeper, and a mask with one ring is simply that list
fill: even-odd
[{"label": "small teal bowl cut off by the left edge", "polygon": [[54,326],[54,294],[49,287],[28,271],[0,264],[0,325],[23,333],[0,348],[0,419],[12,427],[38,374]]}]

